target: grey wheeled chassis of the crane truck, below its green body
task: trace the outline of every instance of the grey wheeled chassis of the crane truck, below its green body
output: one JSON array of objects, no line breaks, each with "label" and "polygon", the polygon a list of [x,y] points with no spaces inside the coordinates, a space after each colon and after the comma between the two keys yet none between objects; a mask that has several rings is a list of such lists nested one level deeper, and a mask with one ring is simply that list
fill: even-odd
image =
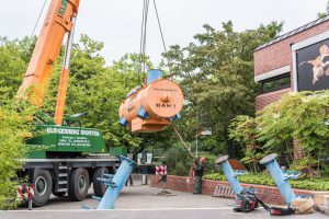
[{"label": "grey wheeled chassis of the crane truck, below its green body", "polygon": [[25,159],[24,170],[20,174],[29,176],[34,185],[34,206],[45,205],[52,193],[55,196],[83,200],[93,183],[94,195],[102,197],[105,185],[98,182],[104,173],[113,174],[118,165],[117,158],[86,157],[81,159]]}]

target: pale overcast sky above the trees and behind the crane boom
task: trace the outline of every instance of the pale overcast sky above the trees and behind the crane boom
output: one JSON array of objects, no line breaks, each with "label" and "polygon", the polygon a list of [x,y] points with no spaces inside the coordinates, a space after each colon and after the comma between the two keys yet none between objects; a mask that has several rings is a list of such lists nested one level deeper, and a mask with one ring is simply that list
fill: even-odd
[{"label": "pale overcast sky above the trees and behind the crane boom", "polygon": [[[10,39],[32,34],[45,0],[0,0],[0,36]],[[47,4],[50,0],[46,0]],[[284,21],[283,33],[317,19],[327,0],[156,0],[167,46],[186,46],[209,24],[220,28],[232,21],[236,31],[257,28],[261,23]],[[151,1],[150,1],[151,2]],[[76,42],[80,34],[104,43],[107,65],[124,54],[138,53],[143,0],[81,0]],[[163,47],[152,4],[149,9],[147,55],[155,64]],[[36,28],[38,34],[44,15]]]}]

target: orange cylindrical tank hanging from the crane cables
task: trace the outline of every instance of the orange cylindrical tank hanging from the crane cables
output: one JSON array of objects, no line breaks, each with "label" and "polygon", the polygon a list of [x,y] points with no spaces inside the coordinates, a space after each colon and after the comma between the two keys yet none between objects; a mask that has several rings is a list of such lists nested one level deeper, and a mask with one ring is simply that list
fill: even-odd
[{"label": "orange cylindrical tank hanging from the crane cables", "polygon": [[179,115],[184,96],[181,88],[168,79],[158,79],[136,88],[120,107],[122,125],[133,131],[159,131]]}]

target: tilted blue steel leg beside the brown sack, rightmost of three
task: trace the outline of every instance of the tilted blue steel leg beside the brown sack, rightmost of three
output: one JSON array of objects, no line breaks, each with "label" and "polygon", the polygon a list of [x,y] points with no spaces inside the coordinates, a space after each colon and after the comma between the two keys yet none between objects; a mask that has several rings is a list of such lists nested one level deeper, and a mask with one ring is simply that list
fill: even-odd
[{"label": "tilted blue steel leg beside the brown sack, rightmost of three", "polygon": [[295,199],[296,195],[292,189],[291,185],[288,184],[288,182],[286,181],[287,177],[284,176],[282,170],[280,169],[275,160],[276,157],[277,157],[276,153],[272,153],[263,158],[260,161],[260,163],[266,166],[277,188],[280,189],[281,195],[284,197],[286,205],[291,206],[292,199]]}]

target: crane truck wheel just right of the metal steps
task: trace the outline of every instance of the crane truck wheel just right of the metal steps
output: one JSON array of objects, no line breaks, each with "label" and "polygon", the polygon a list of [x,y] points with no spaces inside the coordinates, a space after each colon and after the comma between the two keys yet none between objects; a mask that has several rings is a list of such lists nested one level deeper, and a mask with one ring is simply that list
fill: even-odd
[{"label": "crane truck wheel just right of the metal steps", "polygon": [[89,173],[86,169],[78,168],[70,175],[68,196],[73,201],[83,200],[88,195]]}]

